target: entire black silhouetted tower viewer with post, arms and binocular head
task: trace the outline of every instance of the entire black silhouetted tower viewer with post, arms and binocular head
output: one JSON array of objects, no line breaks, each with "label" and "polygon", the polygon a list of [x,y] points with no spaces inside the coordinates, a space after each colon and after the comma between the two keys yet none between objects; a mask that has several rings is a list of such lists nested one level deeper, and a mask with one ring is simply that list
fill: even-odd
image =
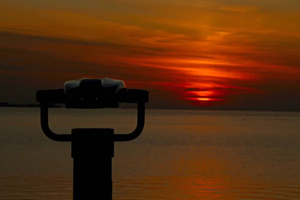
[{"label": "entire black silhouetted tower viewer with post, arms and binocular head", "polygon": [[[147,90],[129,89],[122,80],[110,78],[71,80],[61,89],[36,92],[44,134],[54,141],[70,141],[73,158],[73,199],[112,199],[112,157],[115,141],[130,141],[142,132]],[[129,134],[114,134],[112,128],[74,128],[71,134],[56,134],[48,125],[48,104],[64,103],[66,108],[117,108],[137,104],[137,126]]]}]

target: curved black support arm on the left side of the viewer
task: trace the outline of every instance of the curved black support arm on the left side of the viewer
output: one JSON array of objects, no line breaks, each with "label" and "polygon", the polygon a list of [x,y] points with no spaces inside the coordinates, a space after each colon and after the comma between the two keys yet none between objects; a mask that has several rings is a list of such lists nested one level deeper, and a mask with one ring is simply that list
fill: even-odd
[{"label": "curved black support arm on the left side of the viewer", "polygon": [[48,125],[48,105],[47,103],[40,103],[40,124],[43,133],[54,141],[71,141],[71,134],[56,134],[52,132]]}]

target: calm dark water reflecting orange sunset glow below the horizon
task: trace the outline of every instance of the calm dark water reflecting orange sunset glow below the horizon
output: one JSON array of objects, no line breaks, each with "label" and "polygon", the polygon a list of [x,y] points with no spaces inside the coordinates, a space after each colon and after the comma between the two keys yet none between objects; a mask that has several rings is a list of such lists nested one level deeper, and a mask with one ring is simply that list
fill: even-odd
[{"label": "calm dark water reflecting orange sunset glow below the horizon", "polygon": [[[135,110],[49,111],[50,127],[134,129]],[[300,199],[300,113],[147,110],[115,144],[113,199]],[[72,199],[70,143],[38,108],[0,108],[0,199]]]}]

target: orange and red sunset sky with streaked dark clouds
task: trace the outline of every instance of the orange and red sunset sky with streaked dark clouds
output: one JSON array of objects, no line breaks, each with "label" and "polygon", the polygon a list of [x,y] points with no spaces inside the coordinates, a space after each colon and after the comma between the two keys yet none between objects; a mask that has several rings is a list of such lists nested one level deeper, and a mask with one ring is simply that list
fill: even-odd
[{"label": "orange and red sunset sky with streaked dark clouds", "polygon": [[0,0],[0,102],[80,78],[149,108],[300,109],[299,0]]}]

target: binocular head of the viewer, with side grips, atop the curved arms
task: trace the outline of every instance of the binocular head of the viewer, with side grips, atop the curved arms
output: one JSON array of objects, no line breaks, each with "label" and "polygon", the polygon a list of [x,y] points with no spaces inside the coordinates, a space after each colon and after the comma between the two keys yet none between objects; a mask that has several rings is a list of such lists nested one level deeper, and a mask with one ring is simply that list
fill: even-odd
[{"label": "binocular head of the viewer, with side grips, atop the curved arms", "polygon": [[117,108],[124,103],[146,103],[149,92],[126,88],[122,80],[83,78],[64,83],[61,89],[46,89],[36,92],[40,103],[64,103],[66,108],[94,109]]}]

